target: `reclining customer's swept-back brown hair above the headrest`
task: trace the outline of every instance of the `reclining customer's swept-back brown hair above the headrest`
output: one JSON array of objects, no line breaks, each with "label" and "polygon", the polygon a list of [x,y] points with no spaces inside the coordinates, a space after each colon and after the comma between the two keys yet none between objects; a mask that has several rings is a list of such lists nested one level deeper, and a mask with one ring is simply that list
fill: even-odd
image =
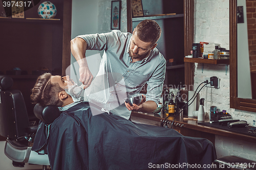
[{"label": "reclining customer's swept-back brown hair above the headrest", "polygon": [[42,106],[55,105],[61,106],[62,102],[58,98],[60,91],[65,91],[58,83],[52,83],[50,73],[45,73],[39,76],[33,87],[30,99],[32,104],[39,103]]}]

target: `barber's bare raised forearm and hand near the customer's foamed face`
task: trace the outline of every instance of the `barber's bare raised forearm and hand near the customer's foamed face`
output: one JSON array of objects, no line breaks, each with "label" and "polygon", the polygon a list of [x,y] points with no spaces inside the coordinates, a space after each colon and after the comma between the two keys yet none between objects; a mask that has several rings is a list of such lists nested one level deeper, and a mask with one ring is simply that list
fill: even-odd
[{"label": "barber's bare raised forearm and hand near the customer's foamed face", "polygon": [[76,37],[71,40],[71,52],[79,65],[79,81],[85,85],[84,88],[89,87],[93,80],[93,75],[86,60],[86,48],[87,42],[82,38]]}]

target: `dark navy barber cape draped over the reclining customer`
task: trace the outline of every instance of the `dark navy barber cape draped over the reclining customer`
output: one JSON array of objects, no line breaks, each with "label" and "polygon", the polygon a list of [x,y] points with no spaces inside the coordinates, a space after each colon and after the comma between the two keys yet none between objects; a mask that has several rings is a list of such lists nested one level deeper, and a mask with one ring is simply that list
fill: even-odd
[{"label": "dark navy barber cape draped over the reclining customer", "polygon": [[207,139],[108,113],[93,116],[84,103],[62,112],[50,125],[48,139],[47,127],[40,123],[32,150],[42,148],[53,170],[197,169],[216,159]]}]

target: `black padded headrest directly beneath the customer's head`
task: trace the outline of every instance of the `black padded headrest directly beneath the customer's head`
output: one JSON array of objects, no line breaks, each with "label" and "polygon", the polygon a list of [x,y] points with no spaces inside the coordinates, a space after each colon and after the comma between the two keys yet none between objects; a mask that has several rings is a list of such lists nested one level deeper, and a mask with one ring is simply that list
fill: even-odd
[{"label": "black padded headrest directly beneath the customer's head", "polygon": [[59,117],[60,111],[55,105],[41,106],[40,104],[36,104],[34,107],[34,114],[42,122],[51,124]]}]

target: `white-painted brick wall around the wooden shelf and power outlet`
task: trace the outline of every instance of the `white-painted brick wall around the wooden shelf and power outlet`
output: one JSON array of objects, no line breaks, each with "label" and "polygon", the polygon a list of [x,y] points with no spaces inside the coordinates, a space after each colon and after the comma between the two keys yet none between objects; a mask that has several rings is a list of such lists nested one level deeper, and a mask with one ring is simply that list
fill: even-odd
[{"label": "white-painted brick wall around the wooden shelf and power outlet", "polygon": [[[195,42],[220,43],[221,47],[229,50],[229,0],[195,0],[194,27]],[[200,98],[205,98],[204,110],[209,113],[210,106],[217,106],[220,110],[227,110],[233,118],[246,120],[252,125],[255,113],[229,108],[229,69],[226,74],[225,65],[204,64],[202,72],[202,64],[195,63],[194,89],[211,76],[217,76],[221,79],[220,89],[202,89]],[[215,147],[218,158],[237,155],[256,160],[255,143],[216,136]]]}]

